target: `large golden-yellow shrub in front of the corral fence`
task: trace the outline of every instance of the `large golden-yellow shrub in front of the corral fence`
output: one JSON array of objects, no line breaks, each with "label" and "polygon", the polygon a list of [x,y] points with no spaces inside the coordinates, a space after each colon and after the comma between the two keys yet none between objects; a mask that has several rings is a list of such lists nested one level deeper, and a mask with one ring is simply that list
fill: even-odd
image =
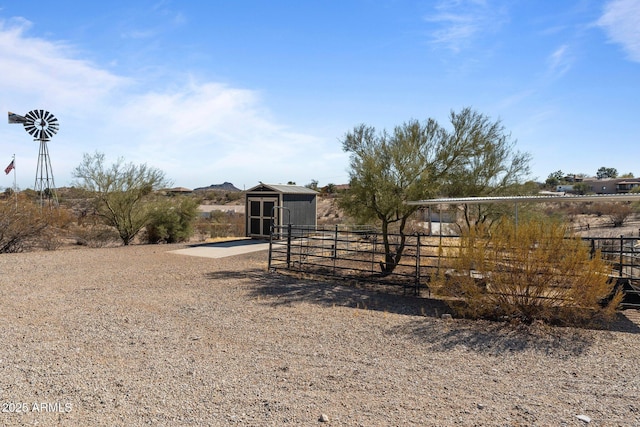
[{"label": "large golden-yellow shrub in front of the corral fence", "polygon": [[621,295],[603,303],[613,292],[610,271],[563,224],[502,220],[490,233],[466,230],[438,283],[465,317],[579,324],[615,313]]}]

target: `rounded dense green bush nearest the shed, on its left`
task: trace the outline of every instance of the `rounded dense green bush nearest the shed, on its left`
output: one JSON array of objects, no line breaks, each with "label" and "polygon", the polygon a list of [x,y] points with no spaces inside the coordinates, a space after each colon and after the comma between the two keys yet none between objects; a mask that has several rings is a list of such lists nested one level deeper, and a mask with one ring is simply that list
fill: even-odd
[{"label": "rounded dense green bush nearest the shed, on its left", "polygon": [[193,235],[198,202],[179,197],[158,200],[150,212],[143,240],[147,243],[184,242]]}]

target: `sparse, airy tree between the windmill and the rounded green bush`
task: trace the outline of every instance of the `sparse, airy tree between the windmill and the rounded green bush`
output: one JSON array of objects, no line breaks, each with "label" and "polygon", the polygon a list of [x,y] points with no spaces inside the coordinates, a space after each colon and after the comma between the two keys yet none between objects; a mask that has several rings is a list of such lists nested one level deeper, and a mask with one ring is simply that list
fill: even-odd
[{"label": "sparse, airy tree between the windmill and the rounded green bush", "polygon": [[74,170],[76,186],[95,195],[96,212],[107,225],[118,230],[122,243],[128,245],[147,225],[150,205],[146,199],[169,185],[164,172],[146,164],[125,163],[119,158],[107,167],[104,154],[84,154]]}]

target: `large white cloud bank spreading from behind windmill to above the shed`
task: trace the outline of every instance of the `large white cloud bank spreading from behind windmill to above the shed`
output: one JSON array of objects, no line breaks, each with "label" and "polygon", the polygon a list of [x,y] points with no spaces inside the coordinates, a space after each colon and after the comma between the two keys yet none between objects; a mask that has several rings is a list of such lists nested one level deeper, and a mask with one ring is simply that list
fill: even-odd
[{"label": "large white cloud bank spreading from behind windmill to above the shed", "polygon": [[[59,186],[71,183],[82,153],[94,151],[107,161],[124,157],[158,167],[188,187],[310,182],[335,176],[336,156],[346,164],[333,140],[278,123],[257,91],[182,76],[143,89],[144,76],[115,75],[71,45],[28,37],[29,27],[25,20],[0,21],[0,108],[22,115],[43,108],[58,118],[49,152]],[[15,153],[18,184],[26,188],[33,185],[37,144],[18,128],[0,126],[0,162]]]}]

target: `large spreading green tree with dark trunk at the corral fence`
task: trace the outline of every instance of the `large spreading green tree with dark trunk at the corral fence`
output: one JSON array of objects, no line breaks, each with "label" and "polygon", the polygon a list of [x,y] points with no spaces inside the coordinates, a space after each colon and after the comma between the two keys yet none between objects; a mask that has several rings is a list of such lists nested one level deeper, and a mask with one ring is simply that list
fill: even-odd
[{"label": "large spreading green tree with dark trunk at the corral fence", "polygon": [[[490,183],[496,174],[512,170],[511,163],[503,164],[512,156],[507,155],[511,146],[499,123],[491,123],[470,108],[451,112],[450,120],[452,131],[433,119],[405,122],[393,133],[378,133],[373,127],[360,125],[342,141],[344,151],[350,153],[350,188],[341,194],[338,204],[356,220],[379,223],[385,251],[383,274],[393,272],[400,262],[407,221],[419,209],[407,201],[439,195],[443,186],[460,193],[480,188],[480,179],[469,185],[458,182],[470,178],[465,173],[469,170]],[[526,170],[527,160],[527,156],[520,156],[516,169]],[[395,244],[389,239],[391,226],[399,235]]]}]

